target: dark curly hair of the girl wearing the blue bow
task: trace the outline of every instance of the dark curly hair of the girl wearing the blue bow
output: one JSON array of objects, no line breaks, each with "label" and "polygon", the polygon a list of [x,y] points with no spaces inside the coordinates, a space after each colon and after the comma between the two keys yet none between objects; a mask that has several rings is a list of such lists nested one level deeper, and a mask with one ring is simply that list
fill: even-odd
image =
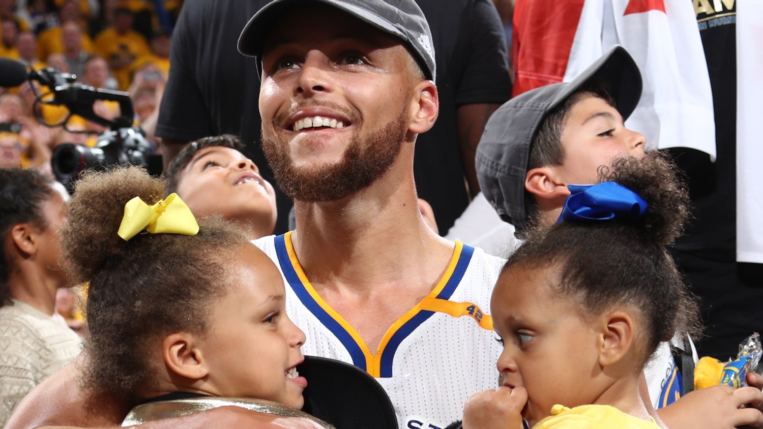
[{"label": "dark curly hair of the girl wearing the blue bow", "polygon": [[636,221],[563,222],[530,231],[504,271],[555,267],[552,288],[577,298],[584,312],[599,315],[633,306],[645,321],[644,359],[677,331],[700,332],[696,298],[681,279],[666,245],[681,235],[689,199],[675,167],[659,152],[620,158],[600,168],[600,181],[614,181],[648,204]]}]

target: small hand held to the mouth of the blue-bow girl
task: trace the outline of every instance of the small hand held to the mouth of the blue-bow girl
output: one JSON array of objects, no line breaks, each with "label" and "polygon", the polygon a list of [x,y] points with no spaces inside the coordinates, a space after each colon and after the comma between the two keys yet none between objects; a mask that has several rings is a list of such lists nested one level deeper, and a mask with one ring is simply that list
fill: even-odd
[{"label": "small hand held to the mouth of the blue-bow girl", "polygon": [[472,395],[464,405],[464,429],[522,429],[522,408],[527,402],[523,387],[501,386]]}]

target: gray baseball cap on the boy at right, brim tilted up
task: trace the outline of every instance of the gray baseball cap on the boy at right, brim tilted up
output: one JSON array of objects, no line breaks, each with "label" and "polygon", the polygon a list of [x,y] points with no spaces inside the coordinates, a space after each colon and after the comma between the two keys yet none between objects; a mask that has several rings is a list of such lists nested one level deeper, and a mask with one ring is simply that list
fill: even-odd
[{"label": "gray baseball cap on the boy at right, brim tilted up", "polygon": [[527,229],[524,181],[530,144],[543,119],[581,87],[602,82],[626,120],[641,98],[639,66],[623,46],[614,46],[575,80],[526,91],[495,110],[477,146],[477,177],[482,192],[517,232]]}]

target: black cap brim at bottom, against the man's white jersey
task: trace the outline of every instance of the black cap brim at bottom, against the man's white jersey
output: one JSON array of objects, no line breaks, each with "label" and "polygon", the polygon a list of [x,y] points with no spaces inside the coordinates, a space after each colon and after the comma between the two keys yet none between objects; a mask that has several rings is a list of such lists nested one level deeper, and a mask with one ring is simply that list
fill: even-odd
[{"label": "black cap brim at bottom, against the man's white jersey", "polygon": [[340,360],[305,356],[297,370],[307,379],[302,411],[337,429],[398,427],[387,392],[360,368]]}]

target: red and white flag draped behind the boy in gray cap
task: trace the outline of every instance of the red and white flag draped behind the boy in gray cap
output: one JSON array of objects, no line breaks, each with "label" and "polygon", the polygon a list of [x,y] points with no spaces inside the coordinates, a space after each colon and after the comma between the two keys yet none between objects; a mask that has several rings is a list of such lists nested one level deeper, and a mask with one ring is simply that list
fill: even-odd
[{"label": "red and white flag draped behind the boy in gray cap", "polygon": [[713,95],[687,0],[517,0],[514,94],[569,82],[610,47],[623,45],[644,90],[626,126],[649,146],[684,146],[715,157]]}]

